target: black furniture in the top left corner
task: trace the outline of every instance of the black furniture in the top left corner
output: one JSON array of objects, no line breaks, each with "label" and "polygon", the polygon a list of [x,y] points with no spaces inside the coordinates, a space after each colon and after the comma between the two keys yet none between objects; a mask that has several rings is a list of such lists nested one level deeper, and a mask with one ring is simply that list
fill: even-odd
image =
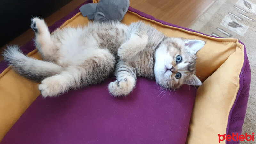
[{"label": "black furniture in the top left corner", "polygon": [[71,0],[0,0],[0,47],[30,28],[30,19],[45,18]]}]

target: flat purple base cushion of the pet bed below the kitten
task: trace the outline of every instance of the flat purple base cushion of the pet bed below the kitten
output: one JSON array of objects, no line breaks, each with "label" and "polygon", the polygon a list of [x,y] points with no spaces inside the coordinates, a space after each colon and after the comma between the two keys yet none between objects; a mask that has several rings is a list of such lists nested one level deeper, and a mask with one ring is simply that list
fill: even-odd
[{"label": "flat purple base cushion of the pet bed below the kitten", "polygon": [[196,88],[162,92],[139,78],[127,98],[100,85],[57,98],[39,96],[5,135],[5,143],[185,143]]}]

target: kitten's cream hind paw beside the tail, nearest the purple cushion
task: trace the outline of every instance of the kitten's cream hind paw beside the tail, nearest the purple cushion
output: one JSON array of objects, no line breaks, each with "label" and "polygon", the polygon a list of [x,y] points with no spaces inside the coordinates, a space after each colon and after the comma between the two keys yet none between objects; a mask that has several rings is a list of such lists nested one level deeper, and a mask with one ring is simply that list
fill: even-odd
[{"label": "kitten's cream hind paw beside the tail, nearest the purple cushion", "polygon": [[58,80],[54,77],[48,77],[42,81],[38,88],[44,98],[47,96],[57,96],[62,92],[61,83],[60,79]]}]

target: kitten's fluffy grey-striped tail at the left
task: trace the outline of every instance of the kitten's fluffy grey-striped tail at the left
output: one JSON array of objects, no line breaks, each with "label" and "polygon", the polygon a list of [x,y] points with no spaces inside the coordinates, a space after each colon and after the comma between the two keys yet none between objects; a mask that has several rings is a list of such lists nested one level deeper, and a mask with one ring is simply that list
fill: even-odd
[{"label": "kitten's fluffy grey-striped tail at the left", "polygon": [[7,46],[4,60],[20,75],[30,80],[42,81],[46,77],[59,74],[63,67],[52,62],[37,60],[24,55],[17,45]]}]

